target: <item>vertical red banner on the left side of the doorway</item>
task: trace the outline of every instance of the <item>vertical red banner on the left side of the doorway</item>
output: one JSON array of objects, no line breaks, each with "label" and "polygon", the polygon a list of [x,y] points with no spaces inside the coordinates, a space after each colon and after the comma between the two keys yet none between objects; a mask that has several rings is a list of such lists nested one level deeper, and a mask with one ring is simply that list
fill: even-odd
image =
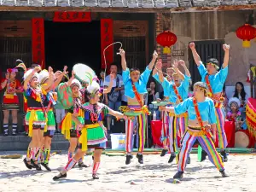
[{"label": "vertical red banner on the left side of the doorway", "polygon": [[32,62],[45,68],[44,18],[32,18]]}]

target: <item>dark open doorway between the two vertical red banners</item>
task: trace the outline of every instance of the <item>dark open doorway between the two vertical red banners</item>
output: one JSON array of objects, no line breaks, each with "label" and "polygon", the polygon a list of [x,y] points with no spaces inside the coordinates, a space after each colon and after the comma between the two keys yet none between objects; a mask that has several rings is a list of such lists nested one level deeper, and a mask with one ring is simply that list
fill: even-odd
[{"label": "dark open doorway between the two vertical red banners", "polygon": [[101,22],[62,23],[44,21],[45,64],[54,70],[68,67],[69,75],[73,65],[84,63],[96,73],[101,68]]}]

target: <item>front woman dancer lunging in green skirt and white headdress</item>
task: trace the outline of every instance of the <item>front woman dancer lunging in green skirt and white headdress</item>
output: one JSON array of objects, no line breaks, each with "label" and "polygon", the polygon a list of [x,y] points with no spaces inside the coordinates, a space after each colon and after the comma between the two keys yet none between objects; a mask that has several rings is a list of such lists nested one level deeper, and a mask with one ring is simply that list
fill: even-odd
[{"label": "front woman dancer lunging in green skirt and white headdress", "polygon": [[58,180],[63,177],[67,177],[67,172],[72,169],[78,160],[84,156],[87,149],[94,149],[94,162],[92,169],[92,178],[98,179],[96,172],[100,166],[102,150],[106,148],[107,142],[107,129],[104,127],[102,120],[107,113],[115,116],[116,118],[126,119],[126,116],[122,113],[113,111],[108,106],[100,103],[100,85],[93,81],[85,91],[86,96],[90,97],[90,101],[84,103],[81,107],[84,110],[84,124],[80,123],[79,119],[73,115],[73,120],[76,122],[77,129],[81,130],[81,136],[79,137],[79,149],[77,153],[71,158],[67,165],[63,167],[61,172],[53,177],[54,180]]}]

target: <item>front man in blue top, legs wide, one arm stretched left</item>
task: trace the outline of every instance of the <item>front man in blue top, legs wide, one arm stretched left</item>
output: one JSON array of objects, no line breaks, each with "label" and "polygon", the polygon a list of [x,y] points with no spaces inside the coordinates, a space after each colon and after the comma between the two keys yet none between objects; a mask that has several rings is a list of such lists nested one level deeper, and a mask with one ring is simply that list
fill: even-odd
[{"label": "front man in blue top, legs wide, one arm stretched left", "polygon": [[178,154],[177,173],[173,178],[182,178],[189,151],[196,140],[204,148],[222,177],[228,175],[224,171],[224,164],[218,154],[214,142],[216,139],[216,115],[212,99],[207,98],[207,85],[202,82],[194,84],[194,97],[190,97],[176,107],[160,107],[160,110],[175,114],[188,112],[189,123],[182,140],[182,147]]}]

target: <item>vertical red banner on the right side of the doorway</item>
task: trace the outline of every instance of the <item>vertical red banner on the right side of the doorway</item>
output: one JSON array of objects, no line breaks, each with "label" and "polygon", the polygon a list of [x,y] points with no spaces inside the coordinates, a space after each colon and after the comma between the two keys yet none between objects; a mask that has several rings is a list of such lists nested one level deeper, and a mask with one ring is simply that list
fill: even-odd
[{"label": "vertical red banner on the right side of the doorway", "polygon": [[[105,68],[103,51],[109,45],[113,44],[113,20],[101,20],[101,44],[102,44],[102,68]],[[105,50],[107,67],[113,62],[113,46]]]}]

